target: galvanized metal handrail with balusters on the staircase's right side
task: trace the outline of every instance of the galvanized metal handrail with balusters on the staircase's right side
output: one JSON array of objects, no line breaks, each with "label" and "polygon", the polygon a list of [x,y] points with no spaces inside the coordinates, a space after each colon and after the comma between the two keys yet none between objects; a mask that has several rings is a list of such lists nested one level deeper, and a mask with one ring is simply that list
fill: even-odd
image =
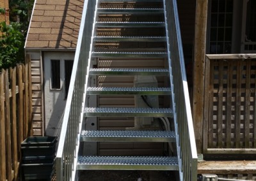
[{"label": "galvanized metal handrail with balusters on the staircase's right side", "polygon": [[180,180],[197,180],[197,152],[176,0],[164,0]]}]

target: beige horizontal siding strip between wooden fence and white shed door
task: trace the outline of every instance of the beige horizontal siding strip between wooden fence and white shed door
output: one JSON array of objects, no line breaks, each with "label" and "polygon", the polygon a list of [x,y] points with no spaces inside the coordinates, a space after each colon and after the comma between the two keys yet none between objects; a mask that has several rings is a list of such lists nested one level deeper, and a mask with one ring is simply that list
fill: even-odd
[{"label": "beige horizontal siding strip between wooden fence and white shed door", "polygon": [[29,51],[31,55],[31,81],[32,81],[32,121],[33,135],[44,135],[44,99],[43,99],[43,77],[42,56],[40,51]]}]

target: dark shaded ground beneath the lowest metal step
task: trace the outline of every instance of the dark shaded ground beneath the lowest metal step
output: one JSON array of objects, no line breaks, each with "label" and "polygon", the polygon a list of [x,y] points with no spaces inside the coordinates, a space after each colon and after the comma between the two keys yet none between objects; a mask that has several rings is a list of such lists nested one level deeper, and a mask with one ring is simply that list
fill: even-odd
[{"label": "dark shaded ground beneath the lowest metal step", "polygon": [[81,181],[174,181],[172,171],[82,171]]}]

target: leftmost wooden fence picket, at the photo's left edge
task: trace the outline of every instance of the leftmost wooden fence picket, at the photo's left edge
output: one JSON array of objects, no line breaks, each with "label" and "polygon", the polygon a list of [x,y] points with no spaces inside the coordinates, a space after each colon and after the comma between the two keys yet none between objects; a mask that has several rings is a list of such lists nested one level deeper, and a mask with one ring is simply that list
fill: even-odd
[{"label": "leftmost wooden fence picket, at the photo's left edge", "polygon": [[6,150],[5,150],[5,110],[4,110],[4,74],[0,74],[0,180],[6,180]]}]

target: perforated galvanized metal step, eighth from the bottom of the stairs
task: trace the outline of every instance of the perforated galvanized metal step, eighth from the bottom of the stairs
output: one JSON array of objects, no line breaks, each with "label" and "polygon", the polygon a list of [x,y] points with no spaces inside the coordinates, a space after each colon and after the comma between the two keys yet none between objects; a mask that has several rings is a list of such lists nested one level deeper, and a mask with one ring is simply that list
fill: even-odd
[{"label": "perforated galvanized metal step, eighth from the bottom of the stairs", "polygon": [[96,22],[95,27],[164,27],[164,22]]}]

